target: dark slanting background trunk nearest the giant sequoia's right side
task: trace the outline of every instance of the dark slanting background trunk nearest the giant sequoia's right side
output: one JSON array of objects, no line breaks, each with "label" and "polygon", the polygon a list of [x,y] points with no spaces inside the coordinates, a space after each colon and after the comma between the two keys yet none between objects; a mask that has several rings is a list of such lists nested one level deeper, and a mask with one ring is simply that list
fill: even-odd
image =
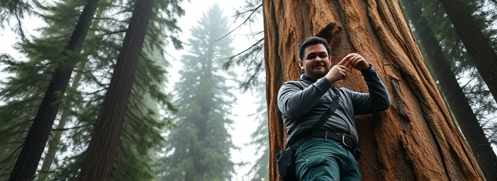
[{"label": "dark slanting background trunk nearest the giant sequoia's right side", "polygon": [[497,180],[497,157],[493,152],[489,140],[481,129],[477,117],[474,115],[469,105],[465,93],[457,83],[457,78],[450,69],[450,64],[443,57],[442,49],[436,41],[435,35],[428,27],[428,21],[421,17],[421,6],[419,1],[404,0],[407,16],[411,19],[417,34],[419,35],[421,45],[423,45],[426,54],[426,60],[430,62],[433,68],[433,74],[436,75],[439,85],[442,88],[443,95],[447,101],[452,115],[455,117],[462,134],[464,134],[469,147],[476,158],[481,171],[484,173],[486,180]]}]

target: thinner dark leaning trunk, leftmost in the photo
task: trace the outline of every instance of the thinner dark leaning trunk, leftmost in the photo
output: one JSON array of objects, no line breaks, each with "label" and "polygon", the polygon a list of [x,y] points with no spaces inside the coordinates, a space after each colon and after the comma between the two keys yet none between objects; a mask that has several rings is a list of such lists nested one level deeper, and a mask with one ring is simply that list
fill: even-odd
[{"label": "thinner dark leaning trunk, leftmost in the photo", "polygon": [[[68,51],[78,51],[88,34],[93,15],[97,10],[97,4],[98,0],[88,0],[71,39],[66,45],[64,55],[71,54]],[[40,163],[44,146],[47,144],[48,136],[59,110],[60,101],[58,100],[60,97],[58,98],[57,95],[64,95],[77,63],[72,57],[64,56],[62,58],[66,61],[64,64],[60,64],[52,75],[52,80],[45,92],[28,136],[26,136],[23,149],[20,151],[9,180],[33,180],[35,177],[37,165]]]}]

